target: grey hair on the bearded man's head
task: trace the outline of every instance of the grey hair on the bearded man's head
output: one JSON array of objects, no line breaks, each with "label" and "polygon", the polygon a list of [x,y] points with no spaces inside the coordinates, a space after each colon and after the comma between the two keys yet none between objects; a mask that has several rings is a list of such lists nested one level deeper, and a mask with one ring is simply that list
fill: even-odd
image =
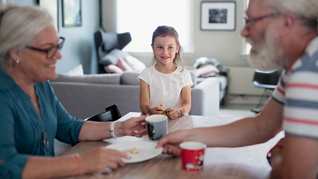
[{"label": "grey hair on the bearded man's head", "polygon": [[318,0],[268,0],[279,12],[292,12],[304,25],[318,33]]}]

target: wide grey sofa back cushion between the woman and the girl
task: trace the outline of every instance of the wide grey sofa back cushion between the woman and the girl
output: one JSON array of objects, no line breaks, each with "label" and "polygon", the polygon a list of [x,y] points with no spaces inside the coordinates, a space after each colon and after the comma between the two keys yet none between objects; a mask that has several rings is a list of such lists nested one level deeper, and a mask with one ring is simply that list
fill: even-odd
[{"label": "wide grey sofa back cushion between the woman and the girl", "polygon": [[120,74],[89,74],[83,76],[71,76],[67,74],[58,74],[52,82],[76,82],[76,83],[94,83],[94,84],[113,84],[120,85]]}]

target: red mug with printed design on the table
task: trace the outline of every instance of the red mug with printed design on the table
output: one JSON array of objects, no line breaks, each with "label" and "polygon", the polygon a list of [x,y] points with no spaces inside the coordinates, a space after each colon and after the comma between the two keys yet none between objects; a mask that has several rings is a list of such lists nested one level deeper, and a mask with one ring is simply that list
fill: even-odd
[{"label": "red mug with printed design on the table", "polygon": [[180,144],[182,169],[187,172],[202,171],[206,147],[207,145],[202,142],[182,142]]}]

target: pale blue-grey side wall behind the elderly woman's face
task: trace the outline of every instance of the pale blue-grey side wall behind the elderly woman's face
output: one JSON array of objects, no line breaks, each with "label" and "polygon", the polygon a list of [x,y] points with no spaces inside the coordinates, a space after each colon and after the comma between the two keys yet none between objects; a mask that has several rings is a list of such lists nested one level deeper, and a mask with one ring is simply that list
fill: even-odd
[{"label": "pale blue-grey side wall behind the elderly woman's face", "polygon": [[[6,0],[20,6],[36,5],[37,0]],[[99,29],[99,0],[81,0],[82,26],[62,26],[62,0],[58,0],[59,35],[65,37],[61,50],[62,59],[57,62],[56,71],[66,73],[79,64],[85,74],[97,73],[97,55],[94,32]]]}]

